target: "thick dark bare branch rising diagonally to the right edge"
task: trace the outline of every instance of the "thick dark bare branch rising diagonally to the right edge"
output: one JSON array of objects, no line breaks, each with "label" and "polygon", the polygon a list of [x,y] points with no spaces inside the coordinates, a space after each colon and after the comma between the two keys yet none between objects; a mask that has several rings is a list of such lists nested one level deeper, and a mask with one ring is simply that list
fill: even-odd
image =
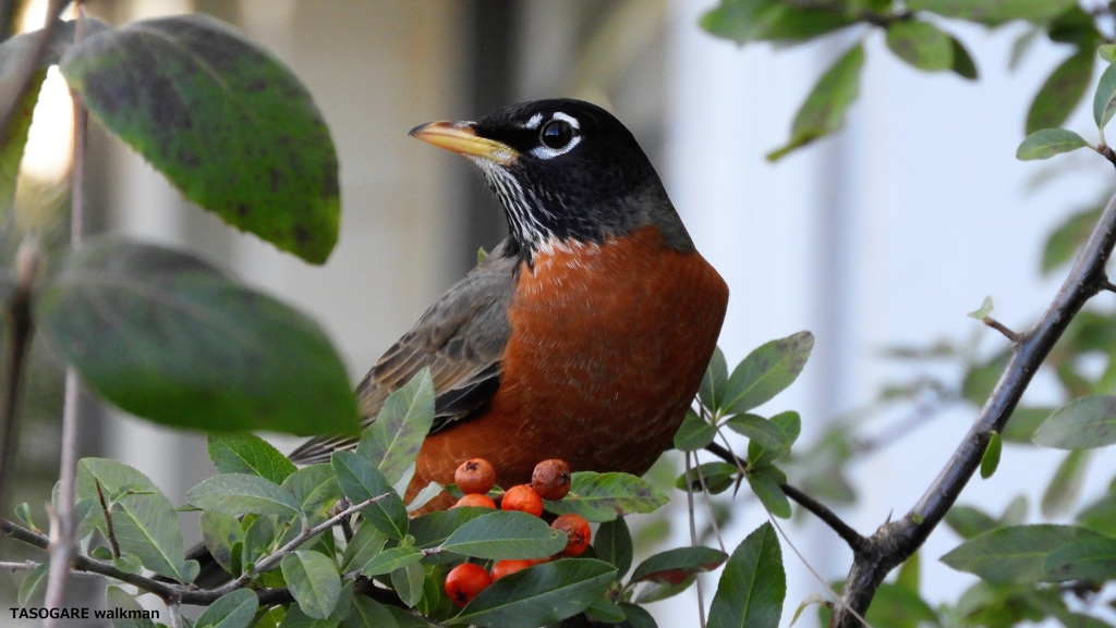
[{"label": "thick dark bare branch rising diagonally to the right edge", "polygon": [[1116,243],[1116,196],[1108,202],[1072,270],[1033,328],[1013,344],[1011,358],[975,423],[958,445],[918,503],[902,519],[884,524],[855,553],[845,580],[841,601],[834,608],[830,626],[860,626],[884,577],[911,557],[930,537],[956,502],[961,490],[980,466],[992,432],[1002,432],[1035,373],[1081,307],[1109,286],[1105,276]]}]

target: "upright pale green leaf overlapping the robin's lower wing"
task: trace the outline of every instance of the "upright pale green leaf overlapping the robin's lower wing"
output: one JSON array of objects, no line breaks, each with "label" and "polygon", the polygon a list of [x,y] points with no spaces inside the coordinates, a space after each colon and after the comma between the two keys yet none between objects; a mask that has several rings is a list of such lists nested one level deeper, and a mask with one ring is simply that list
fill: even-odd
[{"label": "upright pale green leaf overlapping the robin's lower wing", "polygon": [[379,416],[360,436],[356,453],[376,463],[394,485],[415,461],[433,424],[434,381],[424,368],[387,396]]}]

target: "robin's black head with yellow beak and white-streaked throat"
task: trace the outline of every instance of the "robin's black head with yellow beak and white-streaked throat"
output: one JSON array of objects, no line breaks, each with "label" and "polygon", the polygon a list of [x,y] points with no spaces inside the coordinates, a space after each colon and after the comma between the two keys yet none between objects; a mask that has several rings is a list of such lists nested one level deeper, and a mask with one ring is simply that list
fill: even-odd
[{"label": "robin's black head with yellow beak and white-streaked throat", "polygon": [[679,249],[692,243],[655,168],[612,114],[581,100],[512,105],[477,122],[430,123],[411,135],[472,160],[499,196],[510,251],[600,243],[656,224]]}]

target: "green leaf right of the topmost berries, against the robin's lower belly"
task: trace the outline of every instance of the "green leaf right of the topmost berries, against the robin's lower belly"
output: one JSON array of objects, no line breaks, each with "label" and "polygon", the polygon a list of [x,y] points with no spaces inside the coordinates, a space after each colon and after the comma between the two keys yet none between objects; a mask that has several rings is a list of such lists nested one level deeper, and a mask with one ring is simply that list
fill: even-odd
[{"label": "green leaf right of the topmost berries, against the robin's lower belly", "polygon": [[555,514],[577,513],[587,521],[612,521],[617,516],[653,512],[670,499],[646,480],[627,473],[571,474],[569,495],[561,501],[545,502]]}]

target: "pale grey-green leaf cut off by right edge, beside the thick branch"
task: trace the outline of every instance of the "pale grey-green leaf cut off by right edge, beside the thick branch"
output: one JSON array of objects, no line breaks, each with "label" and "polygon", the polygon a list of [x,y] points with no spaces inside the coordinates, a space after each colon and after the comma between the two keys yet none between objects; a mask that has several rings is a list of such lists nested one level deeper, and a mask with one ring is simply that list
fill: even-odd
[{"label": "pale grey-green leaf cut off by right edge, beside the thick branch", "polygon": [[1116,443],[1116,396],[1089,395],[1056,409],[1032,438],[1058,450],[1091,450]]}]

